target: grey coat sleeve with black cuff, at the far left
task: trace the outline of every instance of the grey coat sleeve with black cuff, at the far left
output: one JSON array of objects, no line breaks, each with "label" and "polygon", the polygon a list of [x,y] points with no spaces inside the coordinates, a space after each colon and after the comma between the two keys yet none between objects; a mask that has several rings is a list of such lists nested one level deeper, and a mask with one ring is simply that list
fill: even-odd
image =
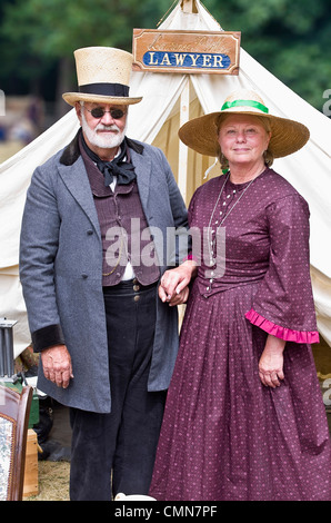
[{"label": "grey coat sleeve with black cuff, at the far left", "polygon": [[54,288],[59,228],[56,191],[39,167],[28,189],[20,238],[20,280],[36,352],[64,343]]}]

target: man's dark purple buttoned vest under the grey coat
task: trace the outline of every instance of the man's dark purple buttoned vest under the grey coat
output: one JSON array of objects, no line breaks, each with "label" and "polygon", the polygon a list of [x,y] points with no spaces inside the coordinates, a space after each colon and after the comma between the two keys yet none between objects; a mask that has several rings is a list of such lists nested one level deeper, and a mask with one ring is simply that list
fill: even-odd
[{"label": "man's dark purple buttoned vest under the grey coat", "polygon": [[141,206],[137,180],[104,186],[102,172],[80,144],[88,172],[102,239],[102,285],[117,285],[123,278],[128,262],[141,285],[160,277],[159,262],[149,226]]}]

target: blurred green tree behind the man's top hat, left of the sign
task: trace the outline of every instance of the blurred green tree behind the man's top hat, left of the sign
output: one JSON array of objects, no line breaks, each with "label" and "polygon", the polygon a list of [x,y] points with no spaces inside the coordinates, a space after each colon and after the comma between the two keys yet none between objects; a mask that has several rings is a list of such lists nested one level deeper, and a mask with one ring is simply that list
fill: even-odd
[{"label": "blurred green tree behind the man's top hat, left of the sign", "polygon": [[[141,6],[138,0],[14,0],[7,1],[0,28],[0,48],[4,68],[2,85],[10,88],[21,81],[40,91],[43,75],[58,67],[58,89],[52,96],[76,87],[73,51],[88,46],[119,47],[131,51],[132,29],[142,19],[151,23],[158,10],[168,8],[159,0]],[[156,24],[156,21],[153,21]],[[12,79],[10,81],[9,79]],[[66,106],[61,106],[63,110]]]}]

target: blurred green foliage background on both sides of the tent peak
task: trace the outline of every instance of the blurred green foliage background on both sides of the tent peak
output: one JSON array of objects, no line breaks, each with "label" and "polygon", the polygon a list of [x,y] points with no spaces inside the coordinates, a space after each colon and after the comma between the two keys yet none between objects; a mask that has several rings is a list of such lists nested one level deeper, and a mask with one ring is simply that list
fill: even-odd
[{"label": "blurred green foliage background on both sides of the tent peak", "polygon": [[[318,109],[331,87],[330,0],[204,0],[224,30]],[[131,50],[133,28],[157,28],[172,0],[2,0],[0,82],[47,77],[86,46]],[[2,12],[1,12],[2,11]],[[1,85],[0,85],[1,88]]]}]

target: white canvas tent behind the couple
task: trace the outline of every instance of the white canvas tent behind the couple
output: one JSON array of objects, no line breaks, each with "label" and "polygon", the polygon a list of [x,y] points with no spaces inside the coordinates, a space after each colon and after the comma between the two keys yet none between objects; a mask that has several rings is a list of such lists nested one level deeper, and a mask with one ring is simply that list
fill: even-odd
[{"label": "white canvas tent behind the couple", "polygon": [[[178,2],[159,29],[221,31],[220,24],[199,0],[194,11],[184,12]],[[241,28],[233,28],[241,30]],[[224,98],[239,87],[257,90],[270,112],[305,124],[311,138],[294,155],[278,159],[274,168],[308,200],[311,210],[311,274],[321,335],[331,346],[331,121],[298,97],[259,65],[243,49],[239,76],[133,72],[130,93],[143,96],[131,106],[128,136],[161,147],[189,203],[204,181],[213,159],[188,150],[177,131],[184,121],[219,110]],[[14,354],[30,343],[26,308],[18,276],[19,235],[26,191],[34,168],[76,135],[78,121],[72,109],[34,141],[0,166],[0,317],[18,319]],[[213,167],[210,176],[218,175]]]}]

